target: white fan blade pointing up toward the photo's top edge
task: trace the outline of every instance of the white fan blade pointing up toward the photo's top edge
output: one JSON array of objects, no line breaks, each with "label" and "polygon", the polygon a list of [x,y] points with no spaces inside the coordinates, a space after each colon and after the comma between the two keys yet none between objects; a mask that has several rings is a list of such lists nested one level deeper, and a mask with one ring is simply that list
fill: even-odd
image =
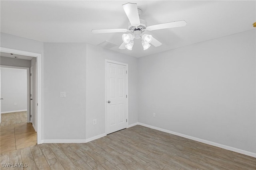
[{"label": "white fan blade pointing up toward the photo's top edge", "polygon": [[139,18],[137,4],[134,4],[134,3],[123,4],[123,8],[124,8],[124,12],[126,13],[130,23],[135,27],[139,26],[140,18]]}]

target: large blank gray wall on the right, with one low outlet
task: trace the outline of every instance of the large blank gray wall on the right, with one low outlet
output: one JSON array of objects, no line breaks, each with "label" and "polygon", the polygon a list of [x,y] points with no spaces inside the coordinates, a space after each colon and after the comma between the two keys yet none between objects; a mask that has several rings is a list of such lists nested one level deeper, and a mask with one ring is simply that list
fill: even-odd
[{"label": "large blank gray wall on the right, with one low outlet", "polygon": [[255,153],[255,37],[251,30],[140,58],[139,122]]}]

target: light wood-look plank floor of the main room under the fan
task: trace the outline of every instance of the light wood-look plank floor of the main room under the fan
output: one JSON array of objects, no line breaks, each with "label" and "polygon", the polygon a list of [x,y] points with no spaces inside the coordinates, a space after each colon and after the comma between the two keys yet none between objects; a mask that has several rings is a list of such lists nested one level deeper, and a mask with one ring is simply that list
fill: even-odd
[{"label": "light wood-look plank floor of the main room under the fan", "polygon": [[0,159],[1,165],[28,164],[24,170],[256,170],[256,158],[140,125],[88,143],[26,147]]}]

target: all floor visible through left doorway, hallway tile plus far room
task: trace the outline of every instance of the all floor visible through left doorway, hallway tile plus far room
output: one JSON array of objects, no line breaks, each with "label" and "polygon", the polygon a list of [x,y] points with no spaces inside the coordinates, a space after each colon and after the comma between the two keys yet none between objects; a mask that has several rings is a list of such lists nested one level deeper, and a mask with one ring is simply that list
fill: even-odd
[{"label": "all floor visible through left doorway, hallway tile plus far room", "polygon": [[36,145],[36,131],[32,123],[26,123],[26,114],[26,111],[2,114],[0,153]]}]

